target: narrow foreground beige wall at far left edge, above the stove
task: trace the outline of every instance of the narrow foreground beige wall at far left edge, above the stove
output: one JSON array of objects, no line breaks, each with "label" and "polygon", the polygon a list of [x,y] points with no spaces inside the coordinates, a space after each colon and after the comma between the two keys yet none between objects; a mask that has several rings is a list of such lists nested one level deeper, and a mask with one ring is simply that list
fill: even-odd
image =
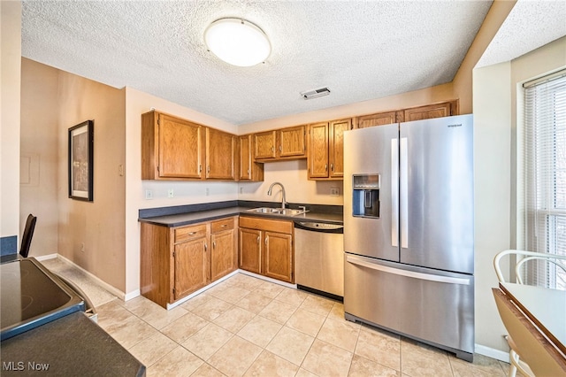
[{"label": "narrow foreground beige wall at far left edge, above the stove", "polygon": [[0,237],[18,236],[18,243],[20,25],[21,4],[0,2]]}]

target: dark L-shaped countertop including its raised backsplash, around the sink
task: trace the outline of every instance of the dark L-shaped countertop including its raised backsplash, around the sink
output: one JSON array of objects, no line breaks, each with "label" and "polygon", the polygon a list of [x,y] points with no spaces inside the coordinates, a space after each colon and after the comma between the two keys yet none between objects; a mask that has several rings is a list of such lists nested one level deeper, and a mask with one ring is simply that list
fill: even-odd
[{"label": "dark L-shaped countertop including its raised backsplash, around the sink", "polygon": [[[223,206],[226,205],[226,206]],[[275,205],[274,205],[275,204]],[[219,204],[198,204],[194,206],[169,207],[160,208],[155,210],[141,210],[139,221],[147,222],[163,227],[182,227],[185,225],[195,224],[203,221],[210,221],[214,219],[223,219],[230,216],[254,216],[270,219],[287,219],[291,221],[306,220],[318,221],[332,224],[342,224],[343,215],[341,206],[336,205],[322,205],[322,204],[289,204],[288,208],[298,208],[299,205],[305,205],[309,212],[302,213],[295,216],[284,216],[271,213],[252,213],[248,212],[252,208],[259,207],[279,207],[279,204],[272,202],[247,202],[247,201],[232,201],[222,202]],[[167,213],[172,212],[172,213]],[[177,212],[177,213],[175,213]],[[157,216],[152,216],[156,214]]]}]

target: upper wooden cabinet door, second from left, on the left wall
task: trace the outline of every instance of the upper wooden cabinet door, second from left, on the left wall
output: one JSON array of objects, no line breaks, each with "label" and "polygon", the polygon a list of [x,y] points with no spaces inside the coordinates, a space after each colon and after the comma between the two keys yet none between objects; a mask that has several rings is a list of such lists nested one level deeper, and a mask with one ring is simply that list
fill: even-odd
[{"label": "upper wooden cabinet door, second from left, on the left wall", "polygon": [[206,178],[235,180],[236,136],[206,128]]}]

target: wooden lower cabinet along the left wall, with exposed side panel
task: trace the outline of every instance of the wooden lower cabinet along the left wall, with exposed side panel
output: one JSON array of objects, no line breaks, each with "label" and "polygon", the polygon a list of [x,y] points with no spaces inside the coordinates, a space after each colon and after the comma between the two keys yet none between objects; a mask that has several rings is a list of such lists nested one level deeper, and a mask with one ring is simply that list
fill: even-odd
[{"label": "wooden lower cabinet along the left wall, with exposed side panel", "polygon": [[235,217],[186,227],[142,223],[142,296],[164,308],[238,268]]}]

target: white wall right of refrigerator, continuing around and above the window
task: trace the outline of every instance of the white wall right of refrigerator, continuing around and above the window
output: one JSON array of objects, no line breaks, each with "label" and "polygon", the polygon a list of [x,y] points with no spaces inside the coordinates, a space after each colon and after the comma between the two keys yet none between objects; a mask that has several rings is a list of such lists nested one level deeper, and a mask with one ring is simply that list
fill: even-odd
[{"label": "white wall right of refrigerator, continuing around and above the window", "polygon": [[[474,70],[475,137],[475,244],[476,244],[476,343],[479,351],[501,357],[509,347],[507,334],[494,304],[491,289],[498,281],[493,257],[521,244],[522,82],[566,68],[566,37],[548,43],[513,61]],[[519,172],[519,173],[517,173]],[[518,213],[518,215],[517,215]],[[503,265],[509,276],[509,264]],[[504,356],[504,355],[503,355]]]}]

